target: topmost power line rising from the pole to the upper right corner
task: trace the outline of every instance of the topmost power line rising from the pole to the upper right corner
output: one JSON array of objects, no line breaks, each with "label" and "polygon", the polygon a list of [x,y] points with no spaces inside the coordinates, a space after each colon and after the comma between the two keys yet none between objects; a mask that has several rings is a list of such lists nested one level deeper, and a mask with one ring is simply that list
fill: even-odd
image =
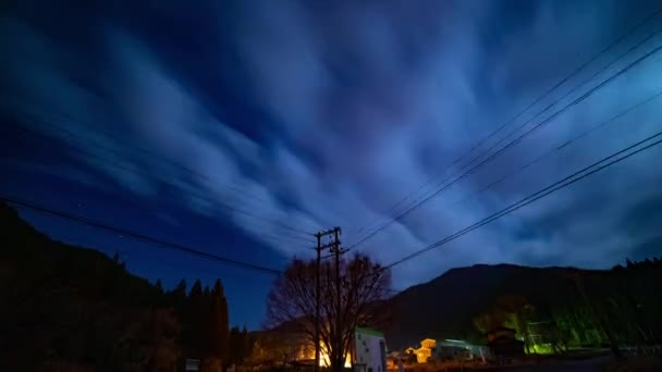
[{"label": "topmost power line rising from the pole to the upper right corner", "polygon": [[[497,134],[499,134],[501,131],[503,131],[507,125],[510,125],[511,123],[515,122],[517,119],[519,119],[525,112],[527,112],[528,110],[530,110],[532,107],[535,107],[536,104],[540,103],[542,101],[542,99],[544,99],[545,97],[548,97],[550,94],[552,94],[554,90],[556,90],[559,87],[561,87],[563,84],[567,83],[569,79],[572,79],[573,77],[577,76],[584,69],[586,69],[588,65],[590,65],[591,63],[596,62],[600,57],[602,57],[604,53],[606,53],[610,49],[614,48],[615,46],[617,46],[618,44],[621,44],[623,40],[625,40],[628,36],[633,35],[636,30],[638,30],[641,26],[643,26],[645,24],[647,24],[648,22],[650,22],[652,18],[654,18],[655,16],[658,16],[660,13],[662,13],[662,8],[658,9],[657,11],[654,11],[653,13],[651,13],[649,16],[647,16],[646,18],[641,20],[639,23],[637,23],[634,27],[632,27],[630,29],[628,29],[625,34],[621,35],[620,37],[617,37],[616,39],[614,39],[612,42],[610,42],[605,48],[603,48],[601,51],[599,51],[597,54],[594,54],[593,57],[591,57],[588,61],[586,61],[585,63],[583,63],[581,65],[579,65],[577,69],[575,69],[573,72],[571,72],[569,75],[565,76],[564,78],[562,78],[561,80],[559,80],[554,86],[552,86],[551,88],[549,88],[545,92],[543,92],[541,96],[539,96],[538,98],[536,98],[532,102],[530,102],[526,108],[524,108],[522,111],[519,111],[516,115],[514,115],[513,117],[508,119],[507,121],[505,121],[504,123],[502,123],[497,129],[494,129],[492,133],[490,133],[487,137],[483,137],[482,139],[478,140],[476,144],[474,144],[474,146],[464,154],[462,154],[461,157],[458,157],[457,159],[455,159],[451,164],[449,164],[442,172],[436,173],[434,175],[432,175],[431,177],[429,177],[421,186],[419,186],[416,190],[409,193],[408,195],[406,195],[404,198],[400,199],[397,202],[395,202],[392,207],[390,207],[385,213],[390,213],[391,211],[395,211],[395,209],[402,204],[403,202],[405,202],[407,199],[409,199],[410,197],[413,197],[414,195],[418,194],[421,189],[424,189],[425,187],[427,187],[434,178],[437,178],[437,176],[441,176],[442,174],[445,174],[452,166],[454,166],[455,164],[457,164],[459,161],[462,161],[465,157],[469,156],[471,152],[474,152],[474,150],[476,150],[478,147],[480,147],[483,142],[490,140],[492,137],[494,137]],[[649,36],[649,38],[652,37]],[[649,38],[645,39],[645,41],[647,41]],[[642,41],[642,42],[645,42]],[[567,97],[567,95],[565,96]],[[507,137],[507,136],[506,136]],[[486,152],[489,152],[490,149],[488,149]],[[473,161],[471,161],[473,162]],[[469,162],[469,164],[471,163]],[[468,165],[468,164],[467,164]],[[466,165],[465,165],[466,166]],[[448,181],[448,179],[446,179]],[[442,184],[445,183],[442,182]],[[370,226],[375,225],[376,223],[379,222],[380,219],[377,219],[376,221],[373,221],[372,223],[369,223],[367,225],[364,225],[363,227],[359,227],[356,233],[360,233],[364,230],[369,228]]]}]

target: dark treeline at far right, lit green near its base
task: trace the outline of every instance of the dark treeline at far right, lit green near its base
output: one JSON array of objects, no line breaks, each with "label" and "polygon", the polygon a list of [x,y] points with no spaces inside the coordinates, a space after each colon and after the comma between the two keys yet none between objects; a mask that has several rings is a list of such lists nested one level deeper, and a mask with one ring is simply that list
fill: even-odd
[{"label": "dark treeline at far right, lit green near its base", "polygon": [[475,318],[487,332],[515,328],[529,352],[573,347],[648,347],[662,344],[662,260],[627,261],[609,271],[560,271],[553,287],[499,297]]}]

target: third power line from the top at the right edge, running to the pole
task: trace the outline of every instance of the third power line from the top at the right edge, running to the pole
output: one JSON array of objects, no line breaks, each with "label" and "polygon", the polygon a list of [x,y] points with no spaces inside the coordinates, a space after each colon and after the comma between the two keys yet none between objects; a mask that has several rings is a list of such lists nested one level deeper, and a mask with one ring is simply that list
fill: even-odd
[{"label": "third power line from the top at the right edge, running to the pole", "polygon": [[[662,49],[662,46],[655,47],[653,50],[647,52],[646,54],[643,54],[642,57],[638,58],[637,60],[633,61],[632,63],[629,63],[627,66],[621,69],[618,72],[616,72],[615,74],[611,75],[610,77],[608,77],[606,79],[604,79],[603,82],[601,82],[600,84],[596,85],[594,87],[592,87],[591,89],[589,89],[587,92],[585,92],[584,95],[581,95],[579,98],[573,100],[571,103],[568,103],[567,106],[565,106],[563,109],[556,111],[554,114],[550,115],[549,117],[547,117],[545,120],[541,121],[540,123],[538,123],[536,126],[534,126],[532,128],[530,128],[529,131],[525,132],[523,135],[520,135],[519,137],[515,138],[514,140],[510,141],[508,144],[506,144],[505,146],[503,146],[501,149],[499,149],[497,152],[494,152],[492,156],[490,156],[489,158],[482,160],[481,162],[479,162],[477,165],[473,166],[471,169],[469,169],[468,171],[466,171],[465,173],[463,173],[462,175],[457,176],[455,179],[453,179],[450,184],[446,184],[445,186],[437,189],[434,193],[432,193],[431,195],[427,196],[425,199],[422,199],[421,201],[415,203],[414,206],[409,207],[407,210],[405,210],[404,212],[397,214],[396,216],[394,216],[393,219],[389,220],[387,223],[384,223],[382,226],[378,227],[377,230],[375,230],[372,233],[366,235],[364,238],[359,239],[357,243],[353,244],[350,248],[356,247],[359,244],[368,240],[369,238],[373,237],[375,235],[377,235],[378,233],[382,232],[383,230],[385,230],[387,227],[389,227],[392,223],[394,223],[395,221],[404,218],[405,215],[409,214],[412,211],[416,210],[417,208],[419,208],[420,206],[425,204],[426,202],[428,202],[429,200],[431,200],[432,198],[434,198],[436,196],[438,196],[439,194],[443,193],[444,190],[446,190],[448,188],[450,188],[451,186],[455,185],[456,183],[458,183],[459,181],[464,179],[466,176],[474,174],[478,169],[480,169],[482,165],[491,162],[492,160],[497,159],[498,157],[500,157],[502,153],[504,153],[505,151],[507,151],[510,148],[516,146],[517,144],[519,144],[523,139],[525,139],[526,137],[528,137],[529,135],[531,135],[534,132],[536,132],[537,129],[541,128],[542,126],[544,126],[545,124],[549,124],[551,121],[553,121],[556,116],[559,116],[561,113],[565,112],[566,110],[573,108],[574,106],[576,106],[577,103],[584,101],[585,99],[587,99],[588,97],[590,97],[593,92],[596,92],[597,90],[601,89],[602,87],[604,87],[606,84],[611,83],[613,79],[615,79],[616,77],[625,74],[626,72],[628,72],[629,70],[632,70],[634,66],[638,65],[639,63],[641,63],[642,61],[645,61],[646,59],[650,58],[651,55],[653,55],[654,53],[657,53],[658,51],[660,51],[660,49]],[[632,50],[630,50],[632,51]],[[629,51],[628,51],[629,52]],[[623,55],[623,54],[622,54]],[[622,57],[621,55],[621,57]],[[621,58],[620,57],[620,58]],[[584,84],[586,84],[587,82],[585,82]],[[583,85],[584,85],[583,84]],[[574,91],[575,89],[573,89]],[[567,96],[567,95],[566,95]],[[565,96],[563,97],[565,98]],[[550,104],[545,110],[548,110],[549,108],[553,107],[556,102]],[[525,125],[528,124],[525,123]],[[519,128],[523,128],[524,126],[520,126]],[[519,129],[517,128],[517,129]],[[510,136],[510,135],[508,135]],[[508,136],[504,137],[507,138]],[[493,147],[492,147],[493,148]],[[488,150],[489,151],[489,150]],[[478,158],[480,158],[481,156],[479,156]],[[470,163],[473,163],[476,159],[478,158],[474,158],[474,160],[471,160]],[[466,165],[465,165],[466,168]],[[464,169],[464,168],[463,168]]]}]

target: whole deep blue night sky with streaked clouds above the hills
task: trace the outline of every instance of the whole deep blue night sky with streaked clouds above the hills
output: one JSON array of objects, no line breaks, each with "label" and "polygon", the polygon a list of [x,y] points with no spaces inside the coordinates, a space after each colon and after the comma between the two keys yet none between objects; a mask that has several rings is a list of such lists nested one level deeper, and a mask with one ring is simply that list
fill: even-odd
[{"label": "whole deep blue night sky with streaked clouds above the hills", "polygon": [[[662,45],[658,13],[508,122],[659,1],[0,7],[3,197],[279,270],[312,257],[314,238],[298,231],[339,225],[352,246],[527,121]],[[661,91],[654,52],[353,250],[388,264],[662,131]],[[660,256],[661,161],[662,146],[651,148],[396,265],[393,287],[475,263],[611,268]],[[22,215],[58,239],[119,252],[166,287],[221,277],[231,322],[260,325],[273,276]]]}]

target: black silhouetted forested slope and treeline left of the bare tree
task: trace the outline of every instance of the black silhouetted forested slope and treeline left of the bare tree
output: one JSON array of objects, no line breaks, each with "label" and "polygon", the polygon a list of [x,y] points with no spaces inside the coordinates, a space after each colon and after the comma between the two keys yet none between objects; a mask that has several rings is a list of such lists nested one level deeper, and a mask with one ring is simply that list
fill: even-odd
[{"label": "black silhouetted forested slope and treeline left of the bare tree", "polygon": [[186,358],[214,370],[250,352],[246,330],[230,328],[220,281],[163,292],[117,256],[36,232],[5,204],[0,303],[1,370],[172,371]]}]

